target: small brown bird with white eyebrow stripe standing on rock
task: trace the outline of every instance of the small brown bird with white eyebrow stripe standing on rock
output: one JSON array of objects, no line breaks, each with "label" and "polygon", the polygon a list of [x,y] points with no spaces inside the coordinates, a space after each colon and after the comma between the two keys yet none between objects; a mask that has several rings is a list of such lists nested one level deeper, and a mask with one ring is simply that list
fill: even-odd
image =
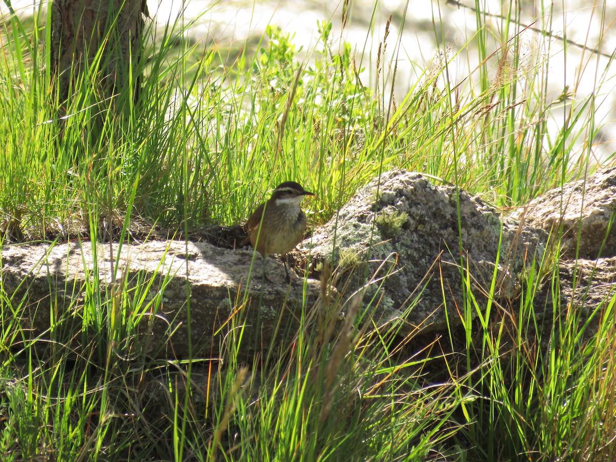
[{"label": "small brown bird with white eyebrow stripe standing on rock", "polygon": [[314,196],[314,193],[294,181],[285,181],[248,218],[248,237],[240,245],[250,242],[263,256],[264,277],[265,257],[275,253],[285,257],[286,279],[288,282],[291,280],[286,267],[286,253],[298,245],[306,231],[306,214],[301,209],[304,196]]}]

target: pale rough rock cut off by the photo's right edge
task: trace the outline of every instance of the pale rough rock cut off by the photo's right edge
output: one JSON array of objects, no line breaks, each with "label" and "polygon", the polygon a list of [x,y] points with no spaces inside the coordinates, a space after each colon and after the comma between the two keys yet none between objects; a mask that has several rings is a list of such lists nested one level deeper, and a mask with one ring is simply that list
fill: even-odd
[{"label": "pale rough rock cut off by the photo's right edge", "polygon": [[601,319],[595,314],[616,288],[616,168],[549,190],[507,220],[550,236],[551,257],[544,272],[551,276],[557,264],[558,286],[537,292],[537,318],[546,318],[551,326],[554,319],[575,316],[583,336],[591,336]]}]

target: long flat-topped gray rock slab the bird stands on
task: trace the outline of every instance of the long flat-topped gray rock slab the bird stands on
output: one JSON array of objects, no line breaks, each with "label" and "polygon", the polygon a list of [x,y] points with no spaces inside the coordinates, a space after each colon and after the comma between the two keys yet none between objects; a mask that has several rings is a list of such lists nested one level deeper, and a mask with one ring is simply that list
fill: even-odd
[{"label": "long flat-topped gray rock slab the bird stands on", "polygon": [[[281,339],[279,319],[285,328],[297,326],[302,307],[314,305],[320,293],[317,281],[309,280],[304,290],[304,280],[294,274],[288,286],[283,265],[273,259],[267,259],[267,271],[274,283],[262,285],[259,254],[247,284],[252,259],[252,249],[233,251],[181,241],[152,241],[121,249],[114,243],[111,253],[110,245],[103,243],[9,245],[2,248],[0,277],[12,305],[25,307],[20,327],[31,338],[78,342],[75,332],[93,322],[88,318],[93,310],[102,312],[103,322],[110,323],[113,298],[122,292],[115,287],[126,285],[129,290],[124,293],[130,299],[118,299],[115,306],[143,314],[138,331],[145,338],[137,343],[148,346],[148,351],[140,354],[188,356],[186,295],[190,293],[193,355],[217,356],[221,342],[232,341],[229,333],[240,328],[244,329],[241,347],[248,355]],[[103,292],[95,291],[94,278]],[[84,306],[88,307],[85,317]],[[239,307],[241,312],[235,311]],[[118,312],[119,323],[125,318]],[[69,338],[59,338],[62,332]]]}]

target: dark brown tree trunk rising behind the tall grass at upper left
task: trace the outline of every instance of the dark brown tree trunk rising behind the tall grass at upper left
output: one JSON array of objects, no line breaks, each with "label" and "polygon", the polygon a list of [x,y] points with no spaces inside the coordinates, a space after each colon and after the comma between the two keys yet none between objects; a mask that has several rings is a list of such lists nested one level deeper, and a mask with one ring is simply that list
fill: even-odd
[{"label": "dark brown tree trunk rising behind the tall grass at upper left", "polygon": [[136,99],[145,0],[53,0],[51,8],[51,65],[60,102],[73,95],[84,73],[99,101],[126,91]]}]

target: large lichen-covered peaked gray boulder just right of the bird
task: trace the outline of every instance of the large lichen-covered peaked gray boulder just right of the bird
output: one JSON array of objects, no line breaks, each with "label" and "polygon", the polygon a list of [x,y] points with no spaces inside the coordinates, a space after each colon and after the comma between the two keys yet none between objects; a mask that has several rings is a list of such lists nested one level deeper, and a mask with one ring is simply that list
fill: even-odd
[{"label": "large lichen-covered peaked gray boulder just right of the bird", "polygon": [[543,255],[543,238],[540,230],[504,223],[459,188],[391,171],[360,189],[302,251],[317,268],[325,260],[338,266],[351,288],[365,287],[366,303],[379,300],[378,322],[402,317],[407,332],[431,331],[461,324],[467,288],[483,309],[494,274],[493,298],[515,298],[518,275]]}]

